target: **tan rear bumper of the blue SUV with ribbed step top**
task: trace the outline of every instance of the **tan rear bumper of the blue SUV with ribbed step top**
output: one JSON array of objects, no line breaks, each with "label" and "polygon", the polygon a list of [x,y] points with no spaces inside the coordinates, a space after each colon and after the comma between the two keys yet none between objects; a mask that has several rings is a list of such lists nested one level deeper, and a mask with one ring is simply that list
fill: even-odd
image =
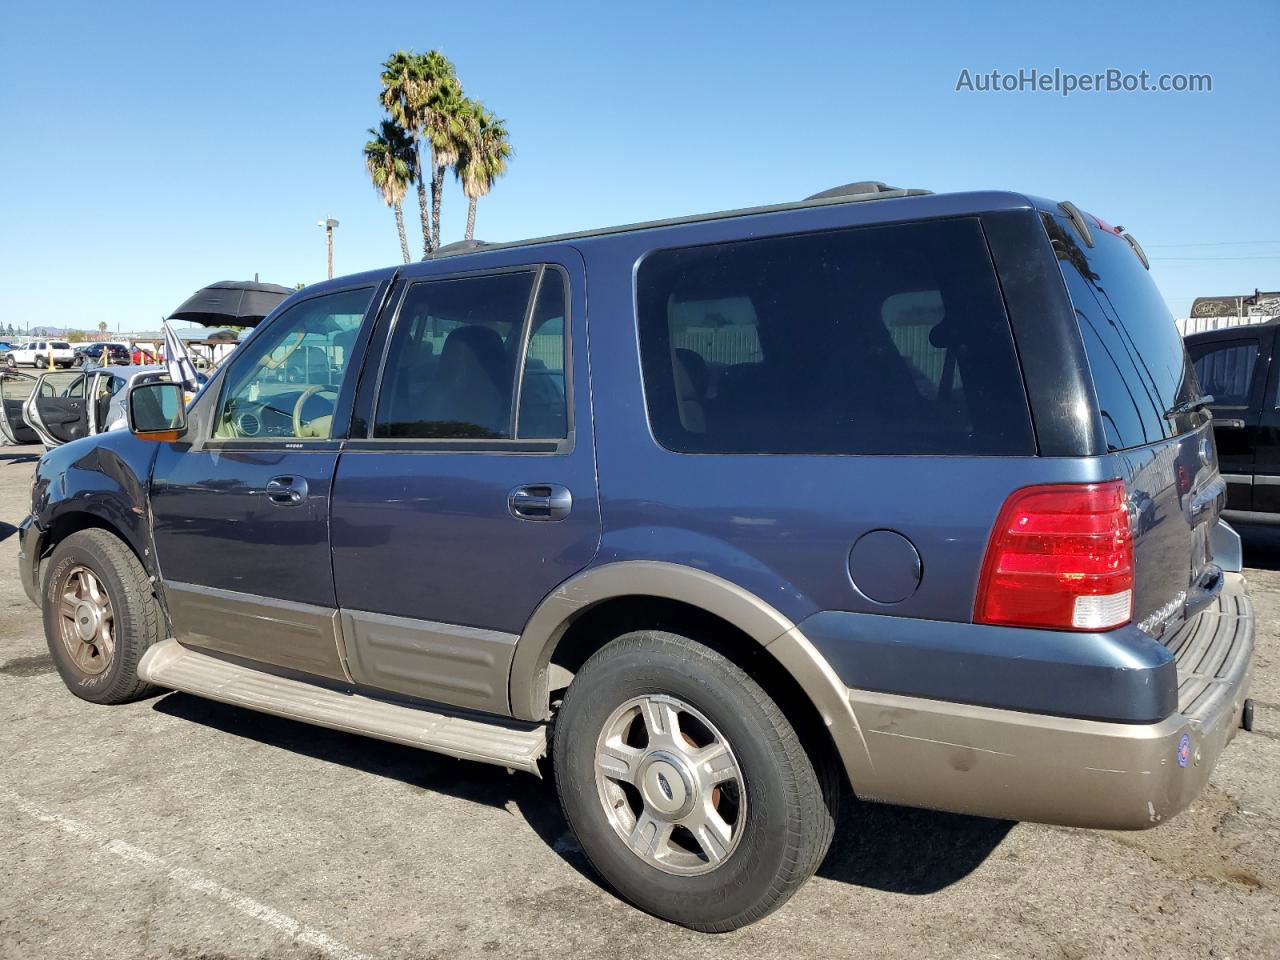
[{"label": "tan rear bumper of the blue SUV with ribbed step top", "polygon": [[1050,717],[850,690],[867,800],[1075,827],[1142,829],[1185,809],[1239,728],[1253,653],[1244,579],[1166,643],[1178,708],[1156,723]]}]

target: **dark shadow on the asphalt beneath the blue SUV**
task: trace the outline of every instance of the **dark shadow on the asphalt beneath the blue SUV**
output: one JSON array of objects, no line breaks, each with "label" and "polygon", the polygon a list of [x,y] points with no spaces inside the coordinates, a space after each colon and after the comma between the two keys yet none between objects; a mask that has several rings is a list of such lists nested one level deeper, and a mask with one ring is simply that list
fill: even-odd
[{"label": "dark shadow on the asphalt beneath the blue SUV", "polygon": [[[280,750],[399,781],[495,809],[515,806],[532,831],[596,886],[547,780],[456,760],[399,744],[314,727],[188,694],[168,694],[155,709],[170,717]],[[1014,824],[980,817],[864,804],[847,797],[819,877],[892,893],[934,893],[973,873]]]}]

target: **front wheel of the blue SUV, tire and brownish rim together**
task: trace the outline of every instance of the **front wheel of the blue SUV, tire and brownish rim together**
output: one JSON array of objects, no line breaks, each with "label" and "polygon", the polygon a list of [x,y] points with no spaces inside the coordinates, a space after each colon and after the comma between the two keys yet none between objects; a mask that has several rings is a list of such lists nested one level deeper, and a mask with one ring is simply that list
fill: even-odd
[{"label": "front wheel of the blue SUV, tire and brownish rim together", "polygon": [[138,660],[161,639],[151,579],[118,538],[81,530],[49,559],[45,639],[63,682],[92,703],[128,703],[156,687],[138,678]]}]

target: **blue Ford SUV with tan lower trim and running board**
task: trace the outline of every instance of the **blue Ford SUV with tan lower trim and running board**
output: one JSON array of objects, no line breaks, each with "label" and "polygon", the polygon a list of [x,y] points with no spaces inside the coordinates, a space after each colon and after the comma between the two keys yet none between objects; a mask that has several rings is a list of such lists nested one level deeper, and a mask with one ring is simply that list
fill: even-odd
[{"label": "blue Ford SUV with tan lower trim and running board", "polygon": [[1144,828],[1249,724],[1211,398],[1071,204],[863,183],[445,250],[179,397],[40,462],[70,690],[550,772],[696,929],[785,902],[844,791]]}]

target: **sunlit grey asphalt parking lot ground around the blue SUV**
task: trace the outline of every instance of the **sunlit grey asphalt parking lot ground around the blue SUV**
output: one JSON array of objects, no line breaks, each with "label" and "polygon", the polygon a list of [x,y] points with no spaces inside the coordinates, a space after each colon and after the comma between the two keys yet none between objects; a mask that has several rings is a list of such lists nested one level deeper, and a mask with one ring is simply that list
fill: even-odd
[{"label": "sunlit grey asphalt parking lot ground around the blue SUV", "polygon": [[603,890],[545,781],[184,694],[72,696],[15,573],[36,453],[0,448],[3,957],[1280,956],[1277,532],[1245,540],[1257,730],[1187,813],[854,805],[786,908],[712,937]]}]

